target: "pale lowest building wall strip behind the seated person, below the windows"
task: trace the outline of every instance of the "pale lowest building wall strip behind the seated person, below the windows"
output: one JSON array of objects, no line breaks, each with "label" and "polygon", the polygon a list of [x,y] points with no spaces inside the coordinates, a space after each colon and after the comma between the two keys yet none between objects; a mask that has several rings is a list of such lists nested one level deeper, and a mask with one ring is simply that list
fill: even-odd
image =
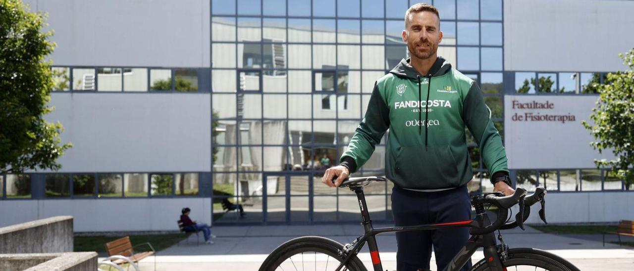
[{"label": "pale lowest building wall strip behind the seated person, below the windows", "polygon": [[193,220],[210,224],[210,198],[46,199],[3,201],[0,226],[72,215],[75,232],[178,230],[184,207],[191,208]]}]

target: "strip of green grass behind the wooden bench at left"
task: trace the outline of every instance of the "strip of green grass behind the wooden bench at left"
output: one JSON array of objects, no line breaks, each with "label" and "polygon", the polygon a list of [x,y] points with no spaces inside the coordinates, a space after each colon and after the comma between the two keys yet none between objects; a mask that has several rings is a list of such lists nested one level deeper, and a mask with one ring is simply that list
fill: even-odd
[{"label": "strip of green grass behind the wooden bench at left", "polygon": [[[106,243],[119,239],[123,236],[75,236],[75,251],[97,251],[100,255],[107,255]],[[130,236],[130,242],[133,246],[150,242],[156,251],[173,246],[179,241],[185,239],[184,234],[149,234]],[[148,246],[139,246],[139,251],[150,250]]]}]

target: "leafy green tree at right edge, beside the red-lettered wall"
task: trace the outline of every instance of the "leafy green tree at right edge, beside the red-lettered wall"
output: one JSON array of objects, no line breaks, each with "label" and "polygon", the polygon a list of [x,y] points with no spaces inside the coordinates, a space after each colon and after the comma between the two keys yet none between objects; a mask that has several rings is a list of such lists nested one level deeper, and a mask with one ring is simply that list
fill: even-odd
[{"label": "leafy green tree at right edge, beside the red-lettered wall", "polygon": [[590,145],[601,153],[611,149],[616,159],[596,160],[595,165],[611,167],[616,177],[626,182],[626,189],[634,184],[634,48],[619,54],[630,67],[625,72],[608,73],[604,84],[597,84],[597,108],[592,108],[590,120],[582,122],[595,141]]}]

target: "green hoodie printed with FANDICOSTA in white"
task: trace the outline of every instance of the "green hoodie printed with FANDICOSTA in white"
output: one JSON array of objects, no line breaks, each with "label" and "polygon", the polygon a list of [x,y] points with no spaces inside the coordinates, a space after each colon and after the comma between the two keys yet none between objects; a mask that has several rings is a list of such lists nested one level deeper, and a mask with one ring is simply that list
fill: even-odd
[{"label": "green hoodie printed with FANDICOSTA in white", "polygon": [[401,60],[375,82],[368,110],[340,161],[351,173],[372,155],[387,129],[387,179],[410,189],[448,189],[473,179],[465,127],[489,172],[508,173],[491,110],[469,77],[438,57],[429,75]]}]

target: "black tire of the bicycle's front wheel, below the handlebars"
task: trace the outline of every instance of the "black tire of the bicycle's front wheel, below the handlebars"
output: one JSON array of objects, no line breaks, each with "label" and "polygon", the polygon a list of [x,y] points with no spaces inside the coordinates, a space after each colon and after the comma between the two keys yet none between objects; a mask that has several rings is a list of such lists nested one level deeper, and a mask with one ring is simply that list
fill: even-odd
[{"label": "black tire of the bicycle's front wheel, below the handlebars", "polygon": [[[488,271],[487,260],[482,259],[475,263],[471,268],[472,271]],[[508,249],[508,257],[502,262],[503,267],[508,270],[514,270],[509,267],[518,267],[517,270],[533,270],[524,267],[544,268],[549,271],[579,271],[572,263],[568,262],[560,256],[548,253],[541,249],[534,248],[512,248]]]}]

